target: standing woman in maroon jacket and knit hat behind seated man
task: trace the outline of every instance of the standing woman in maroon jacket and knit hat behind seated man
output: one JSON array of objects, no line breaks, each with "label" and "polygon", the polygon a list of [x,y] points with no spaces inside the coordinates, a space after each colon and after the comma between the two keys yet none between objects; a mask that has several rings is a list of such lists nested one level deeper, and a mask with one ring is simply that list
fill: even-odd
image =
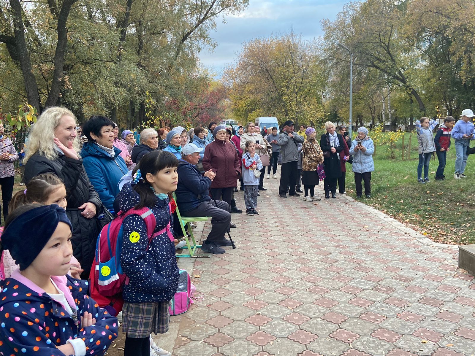
[{"label": "standing woman in maroon jacket and knit hat behind seated man", "polygon": [[[217,126],[213,130],[214,141],[205,148],[203,157],[203,169],[216,173],[216,177],[211,183],[211,193],[216,199],[220,199],[231,206],[233,188],[236,187],[236,180],[241,174],[239,157],[234,145],[227,142],[226,127]],[[221,199],[222,196],[222,199]],[[236,227],[233,223],[231,227]]]}]

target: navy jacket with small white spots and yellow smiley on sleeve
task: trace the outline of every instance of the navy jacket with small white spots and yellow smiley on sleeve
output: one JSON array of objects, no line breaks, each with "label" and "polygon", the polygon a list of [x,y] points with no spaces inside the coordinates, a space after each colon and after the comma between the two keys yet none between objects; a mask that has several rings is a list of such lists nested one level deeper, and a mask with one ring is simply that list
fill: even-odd
[{"label": "navy jacket with small white spots and yellow smiley on sleeve", "polygon": [[[138,204],[140,196],[130,183],[120,194],[121,210],[127,211]],[[154,232],[173,226],[168,198],[155,201],[151,207],[157,225]],[[129,303],[169,301],[178,287],[179,269],[175,246],[168,234],[155,236],[148,242],[147,227],[138,215],[127,216],[123,222],[123,244],[120,256],[123,272],[130,281],[123,287],[123,299]]]}]

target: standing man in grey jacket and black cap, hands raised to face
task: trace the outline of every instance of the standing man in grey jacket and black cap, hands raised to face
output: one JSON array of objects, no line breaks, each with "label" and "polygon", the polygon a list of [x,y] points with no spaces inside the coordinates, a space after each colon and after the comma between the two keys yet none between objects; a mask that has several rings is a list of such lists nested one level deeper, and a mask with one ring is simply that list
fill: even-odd
[{"label": "standing man in grey jacket and black cap, hands raised to face", "polygon": [[298,144],[304,143],[304,138],[294,132],[294,122],[291,120],[284,122],[284,130],[279,135],[277,143],[282,155],[279,196],[286,198],[287,187],[289,187],[289,196],[300,197],[300,194],[295,192],[295,184],[298,179],[297,163],[300,156]]}]

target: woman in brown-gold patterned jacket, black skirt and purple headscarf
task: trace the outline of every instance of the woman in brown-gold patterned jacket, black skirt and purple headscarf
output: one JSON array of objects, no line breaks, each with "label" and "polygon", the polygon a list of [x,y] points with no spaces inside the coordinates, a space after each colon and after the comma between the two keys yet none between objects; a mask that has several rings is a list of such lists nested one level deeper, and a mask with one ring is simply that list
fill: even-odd
[{"label": "woman in brown-gold patterned jacket, black skirt and purple headscarf", "polygon": [[[315,186],[318,185],[317,166],[323,163],[323,153],[315,137],[317,132],[313,127],[305,130],[306,140],[302,145],[302,183],[304,184],[305,201],[321,200],[315,196]],[[310,190],[310,196],[308,195]]]}]

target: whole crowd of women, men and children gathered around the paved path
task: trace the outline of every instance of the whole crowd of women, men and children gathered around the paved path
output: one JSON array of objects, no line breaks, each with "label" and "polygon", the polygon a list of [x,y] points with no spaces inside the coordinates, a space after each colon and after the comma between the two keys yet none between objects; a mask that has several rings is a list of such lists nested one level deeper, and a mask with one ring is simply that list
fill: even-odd
[{"label": "whole crowd of women, men and children gathered around the paved path", "polygon": [[[434,122],[417,122],[420,182],[428,181],[434,151],[440,162],[436,179],[444,178],[450,134],[457,150],[454,177],[466,177],[467,142],[475,133],[469,121],[475,115],[470,110],[462,114],[453,129],[454,119],[447,117],[435,139]],[[12,162],[19,154],[0,125],[6,220],[0,230],[0,310],[7,313],[0,333],[2,352],[104,355],[117,337],[119,321],[87,295],[84,280],[95,274],[96,241],[104,225],[120,212],[145,209],[156,221],[152,238],[142,215],[127,215],[116,256],[127,276],[122,294],[124,355],[170,356],[151,335],[167,332],[169,300],[178,286],[175,249],[182,244],[181,229],[176,228],[180,222],[173,218],[176,208],[184,216],[211,217],[201,250],[221,254],[232,245],[226,237],[236,227],[231,214],[243,213],[235,194],[243,190],[246,214],[258,215],[259,192],[266,190],[271,170],[277,178],[278,165],[281,198],[304,193],[304,201],[319,201],[315,186],[321,181],[326,199],[337,197],[337,186],[346,194],[347,163],[357,197],[363,195],[362,182],[365,196],[371,197],[374,144],[368,130],[358,128],[352,139],[344,126],[326,122],[324,128],[320,141],[315,128],[301,125],[295,131],[290,120],[280,134],[277,127],[261,131],[254,122],[237,129],[211,122],[208,128],[189,130],[147,128],[137,138],[131,130],[120,132],[105,116],[94,115],[77,126],[71,111],[50,107],[20,152],[26,189],[12,198]]]}]

